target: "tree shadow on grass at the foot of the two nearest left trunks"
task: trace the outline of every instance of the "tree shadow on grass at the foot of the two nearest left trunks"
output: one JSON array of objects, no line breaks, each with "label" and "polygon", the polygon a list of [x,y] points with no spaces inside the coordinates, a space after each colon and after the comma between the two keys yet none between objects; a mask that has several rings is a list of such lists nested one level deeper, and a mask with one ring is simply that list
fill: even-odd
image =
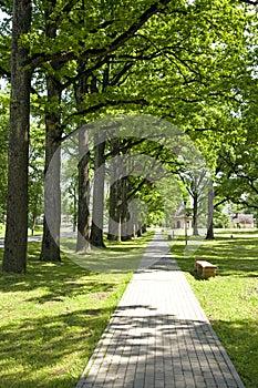
[{"label": "tree shadow on grass at the foot of the two nearest left trunks", "polygon": [[50,299],[59,300],[62,297],[75,296],[82,292],[89,294],[113,289],[114,282],[109,280],[109,276],[101,280],[97,273],[82,268],[66,257],[63,257],[61,263],[40,262],[39,249],[39,243],[30,244],[25,275],[0,273],[0,292],[30,292],[42,287],[48,292],[39,302],[44,303]]}]

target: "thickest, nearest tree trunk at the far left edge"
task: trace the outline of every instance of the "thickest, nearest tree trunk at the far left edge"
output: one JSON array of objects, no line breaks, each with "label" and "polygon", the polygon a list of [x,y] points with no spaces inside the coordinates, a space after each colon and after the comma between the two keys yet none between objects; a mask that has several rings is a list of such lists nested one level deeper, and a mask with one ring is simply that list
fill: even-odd
[{"label": "thickest, nearest tree trunk at the far left edge", "polygon": [[31,1],[13,0],[7,231],[2,269],[25,273],[31,70],[20,37],[30,32]]}]

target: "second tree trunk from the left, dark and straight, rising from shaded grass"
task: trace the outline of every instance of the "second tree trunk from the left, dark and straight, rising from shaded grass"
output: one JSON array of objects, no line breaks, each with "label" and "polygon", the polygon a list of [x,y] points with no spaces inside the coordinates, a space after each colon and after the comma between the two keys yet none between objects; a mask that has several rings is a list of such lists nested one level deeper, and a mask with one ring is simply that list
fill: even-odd
[{"label": "second tree trunk from the left, dark and straight, rising from shaded grass", "polygon": [[[45,34],[50,39],[56,37],[56,25],[50,22],[52,9],[45,12]],[[60,262],[60,225],[61,225],[61,190],[60,190],[60,145],[62,129],[60,127],[61,88],[54,71],[61,64],[52,62],[52,73],[47,74],[48,106],[45,109],[45,172],[50,166],[44,184],[44,224],[41,247],[41,261]]]}]

